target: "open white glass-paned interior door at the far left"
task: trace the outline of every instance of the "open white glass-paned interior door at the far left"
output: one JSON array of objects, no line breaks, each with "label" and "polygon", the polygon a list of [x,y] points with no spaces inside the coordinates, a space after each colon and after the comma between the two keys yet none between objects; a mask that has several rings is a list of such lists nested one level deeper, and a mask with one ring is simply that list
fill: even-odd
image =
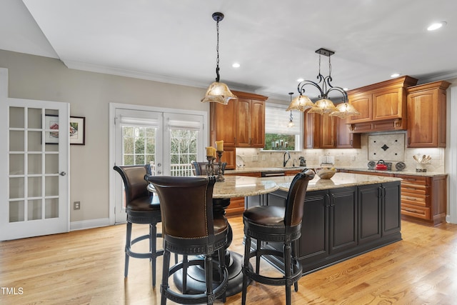
[{"label": "open white glass-paned interior door at the far left", "polygon": [[0,240],[67,232],[69,104],[10,99],[0,74]]}]

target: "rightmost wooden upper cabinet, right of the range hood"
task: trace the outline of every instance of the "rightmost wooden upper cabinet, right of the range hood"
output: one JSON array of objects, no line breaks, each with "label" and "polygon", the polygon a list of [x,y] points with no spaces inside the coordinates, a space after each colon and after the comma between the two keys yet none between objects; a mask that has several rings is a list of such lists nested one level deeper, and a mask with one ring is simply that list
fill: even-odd
[{"label": "rightmost wooden upper cabinet, right of the range hood", "polygon": [[450,83],[413,86],[408,91],[408,147],[446,147],[446,89]]}]

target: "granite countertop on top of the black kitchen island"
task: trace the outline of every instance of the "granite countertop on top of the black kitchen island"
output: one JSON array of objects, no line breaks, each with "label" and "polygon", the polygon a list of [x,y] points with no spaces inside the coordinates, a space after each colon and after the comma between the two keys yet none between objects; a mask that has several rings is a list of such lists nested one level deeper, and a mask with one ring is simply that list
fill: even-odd
[{"label": "granite countertop on top of the black kitchen island", "polygon": [[[281,191],[288,191],[293,176],[279,176],[258,178],[261,181],[273,181]],[[348,186],[361,186],[368,184],[379,184],[392,181],[401,181],[401,178],[390,176],[373,176],[363,174],[336,173],[331,179],[320,179],[317,175],[308,183],[308,191],[321,191],[324,189],[338,189]]]}]

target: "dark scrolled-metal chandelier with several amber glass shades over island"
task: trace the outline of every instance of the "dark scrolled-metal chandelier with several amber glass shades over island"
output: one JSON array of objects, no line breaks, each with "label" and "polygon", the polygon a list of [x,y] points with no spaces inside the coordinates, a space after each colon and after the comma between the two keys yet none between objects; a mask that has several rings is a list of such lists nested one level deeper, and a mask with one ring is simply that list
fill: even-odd
[{"label": "dark scrolled-metal chandelier with several amber glass shades over island", "polygon": [[[311,114],[328,114],[331,116],[338,116],[341,119],[347,118],[348,116],[360,115],[360,112],[358,112],[354,106],[348,104],[348,94],[346,91],[344,91],[341,87],[331,85],[332,78],[330,57],[335,54],[335,52],[321,48],[316,50],[316,53],[319,54],[318,82],[301,81],[297,87],[299,96],[291,101],[291,104],[288,106],[286,111],[291,109],[306,111],[309,109],[308,112]],[[321,74],[321,55],[328,56],[328,76],[325,77]],[[316,101],[316,103],[313,103],[311,99],[305,95],[305,86],[308,85],[317,88],[319,91],[318,101]],[[343,96],[343,102],[341,104],[335,106],[333,101],[328,98],[328,94],[330,94],[331,91],[337,91]]]}]

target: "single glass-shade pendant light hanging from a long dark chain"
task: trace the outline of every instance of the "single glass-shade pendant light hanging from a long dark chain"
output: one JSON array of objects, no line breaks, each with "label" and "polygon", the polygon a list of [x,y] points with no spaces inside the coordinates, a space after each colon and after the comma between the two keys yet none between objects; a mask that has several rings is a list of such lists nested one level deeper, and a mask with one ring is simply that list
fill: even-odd
[{"label": "single glass-shade pendant light hanging from a long dark chain", "polygon": [[201,102],[204,103],[206,101],[210,101],[226,105],[229,104],[230,99],[236,99],[236,95],[231,93],[229,87],[226,84],[219,82],[219,21],[224,19],[224,14],[219,12],[213,13],[213,19],[216,21],[217,32],[216,81],[209,85],[208,90],[206,90],[205,97],[201,99]]}]

